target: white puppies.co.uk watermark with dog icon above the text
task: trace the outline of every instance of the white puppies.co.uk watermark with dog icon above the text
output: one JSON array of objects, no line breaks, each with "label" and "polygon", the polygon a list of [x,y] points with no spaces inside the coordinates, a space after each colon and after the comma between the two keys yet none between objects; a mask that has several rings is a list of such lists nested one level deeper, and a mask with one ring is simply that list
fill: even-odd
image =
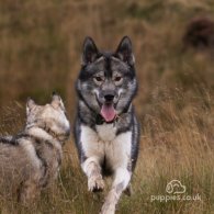
[{"label": "white puppies.co.uk watermark with dog icon above the text", "polygon": [[187,187],[179,180],[171,180],[166,185],[167,194],[150,195],[150,201],[168,202],[168,201],[201,201],[201,195],[185,194]]}]

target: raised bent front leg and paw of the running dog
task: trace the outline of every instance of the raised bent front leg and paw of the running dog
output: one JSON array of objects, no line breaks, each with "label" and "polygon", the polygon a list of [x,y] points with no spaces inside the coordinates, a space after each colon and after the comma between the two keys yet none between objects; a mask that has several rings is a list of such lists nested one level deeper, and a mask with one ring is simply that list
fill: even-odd
[{"label": "raised bent front leg and paw of the running dog", "polygon": [[90,157],[81,165],[81,167],[88,177],[89,191],[102,191],[104,189],[104,181],[102,179],[99,159],[97,157]]}]

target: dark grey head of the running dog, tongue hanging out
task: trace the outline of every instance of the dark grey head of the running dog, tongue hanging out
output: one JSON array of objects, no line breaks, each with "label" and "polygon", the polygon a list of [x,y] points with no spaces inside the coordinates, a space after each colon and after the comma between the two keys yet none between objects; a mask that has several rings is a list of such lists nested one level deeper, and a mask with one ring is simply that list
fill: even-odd
[{"label": "dark grey head of the running dog, tongue hanging out", "polygon": [[137,91],[134,55],[127,36],[114,53],[101,53],[92,38],[85,40],[77,91],[80,100],[105,122],[127,111]]}]

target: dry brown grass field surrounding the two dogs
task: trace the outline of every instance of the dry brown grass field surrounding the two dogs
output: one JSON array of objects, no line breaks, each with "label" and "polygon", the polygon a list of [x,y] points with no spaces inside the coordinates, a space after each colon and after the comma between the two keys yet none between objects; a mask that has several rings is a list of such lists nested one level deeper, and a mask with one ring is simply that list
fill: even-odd
[{"label": "dry brown grass field surrounding the two dogs", "polygon": [[[54,90],[64,98],[72,124],[85,36],[114,49],[128,35],[139,82],[135,106],[142,137],[134,193],[123,195],[117,213],[213,214],[214,47],[182,52],[185,26],[196,16],[214,20],[214,2],[0,1],[1,135],[22,129],[27,97],[45,103]],[[87,191],[72,137],[64,151],[55,185],[29,207],[0,195],[0,213],[99,213],[106,192]],[[166,185],[174,179],[185,185],[180,196],[198,200],[159,201],[158,195],[172,195]]]}]

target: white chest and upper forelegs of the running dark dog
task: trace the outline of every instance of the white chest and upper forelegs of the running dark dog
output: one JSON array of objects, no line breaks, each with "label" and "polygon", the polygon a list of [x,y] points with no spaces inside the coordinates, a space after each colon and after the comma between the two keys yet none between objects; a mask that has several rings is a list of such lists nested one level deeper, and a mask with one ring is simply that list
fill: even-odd
[{"label": "white chest and upper forelegs of the running dark dog", "polygon": [[80,140],[86,157],[95,157],[99,161],[105,158],[113,167],[127,166],[132,150],[132,133],[116,135],[113,124],[99,125],[97,129],[81,126]]}]

